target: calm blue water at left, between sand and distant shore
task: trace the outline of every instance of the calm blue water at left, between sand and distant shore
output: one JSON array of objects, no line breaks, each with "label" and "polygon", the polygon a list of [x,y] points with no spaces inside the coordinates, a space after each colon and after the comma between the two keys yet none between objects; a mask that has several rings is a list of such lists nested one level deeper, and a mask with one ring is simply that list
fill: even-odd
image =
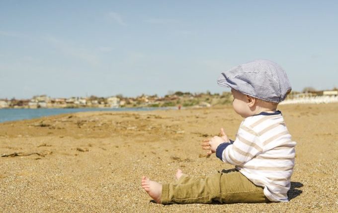
[{"label": "calm blue water at left, between sand and distant shore", "polygon": [[9,108],[0,109],[0,123],[10,120],[32,119],[37,117],[73,113],[79,111],[150,111],[168,108]]}]

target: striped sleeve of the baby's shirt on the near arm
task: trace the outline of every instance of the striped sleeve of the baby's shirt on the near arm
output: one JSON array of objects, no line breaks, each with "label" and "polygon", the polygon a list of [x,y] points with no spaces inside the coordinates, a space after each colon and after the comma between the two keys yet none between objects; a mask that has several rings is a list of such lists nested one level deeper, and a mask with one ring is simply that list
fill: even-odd
[{"label": "striped sleeve of the baby's shirt on the near arm", "polygon": [[262,151],[258,134],[253,129],[241,125],[236,140],[233,144],[229,143],[224,148],[221,156],[224,162],[241,165],[253,159]]}]

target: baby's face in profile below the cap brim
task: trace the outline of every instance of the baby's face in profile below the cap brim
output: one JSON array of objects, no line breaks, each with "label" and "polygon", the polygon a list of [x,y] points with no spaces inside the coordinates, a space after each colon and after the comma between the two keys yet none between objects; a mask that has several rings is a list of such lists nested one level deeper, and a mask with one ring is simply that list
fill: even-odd
[{"label": "baby's face in profile below the cap brim", "polygon": [[234,96],[233,107],[237,114],[241,115],[242,117],[249,117],[252,115],[252,111],[248,106],[248,97],[243,93],[231,89],[231,93]]}]

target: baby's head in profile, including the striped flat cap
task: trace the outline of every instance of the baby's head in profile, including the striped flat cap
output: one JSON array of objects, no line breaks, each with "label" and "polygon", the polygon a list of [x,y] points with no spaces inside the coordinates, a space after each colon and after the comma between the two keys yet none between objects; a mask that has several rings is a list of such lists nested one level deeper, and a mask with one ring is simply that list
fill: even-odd
[{"label": "baby's head in profile, including the striped flat cap", "polygon": [[272,111],[291,91],[285,71],[270,60],[254,60],[223,72],[217,83],[230,87],[233,106],[242,117]]}]

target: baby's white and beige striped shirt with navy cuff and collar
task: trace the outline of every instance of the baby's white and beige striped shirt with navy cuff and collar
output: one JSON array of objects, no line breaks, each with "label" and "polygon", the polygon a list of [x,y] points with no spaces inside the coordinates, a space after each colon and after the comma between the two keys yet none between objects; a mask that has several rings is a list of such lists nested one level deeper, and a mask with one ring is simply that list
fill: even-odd
[{"label": "baby's white and beige striped shirt with navy cuff and collar", "polygon": [[217,149],[217,157],[236,168],[273,202],[287,202],[295,162],[296,142],[291,140],[280,111],[245,118],[233,144]]}]

